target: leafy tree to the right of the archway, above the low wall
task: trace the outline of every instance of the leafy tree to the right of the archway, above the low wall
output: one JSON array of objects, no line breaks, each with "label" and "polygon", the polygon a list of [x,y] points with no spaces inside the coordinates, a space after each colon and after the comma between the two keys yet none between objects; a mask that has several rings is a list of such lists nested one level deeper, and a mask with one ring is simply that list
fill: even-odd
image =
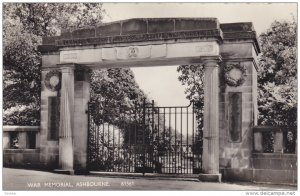
[{"label": "leafy tree to the right of the archway, above the low wall", "polygon": [[297,127],[297,25],[275,21],[259,36],[259,124]]}]

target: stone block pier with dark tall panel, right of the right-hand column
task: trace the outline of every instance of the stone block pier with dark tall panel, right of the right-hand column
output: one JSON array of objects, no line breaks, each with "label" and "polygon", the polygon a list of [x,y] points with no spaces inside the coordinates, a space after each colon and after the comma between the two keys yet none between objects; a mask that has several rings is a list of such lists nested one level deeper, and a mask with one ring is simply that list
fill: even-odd
[{"label": "stone block pier with dark tall panel, right of the right-hand column", "polygon": [[[243,40],[226,42],[220,49],[223,67],[239,64],[246,68],[245,81],[240,86],[230,86],[225,81],[224,70],[220,73],[220,172],[226,181],[251,181],[252,128],[257,123],[257,52],[251,43]],[[238,102],[230,100],[233,95],[240,97]],[[234,137],[231,135],[232,115],[240,122],[236,124]]]}]

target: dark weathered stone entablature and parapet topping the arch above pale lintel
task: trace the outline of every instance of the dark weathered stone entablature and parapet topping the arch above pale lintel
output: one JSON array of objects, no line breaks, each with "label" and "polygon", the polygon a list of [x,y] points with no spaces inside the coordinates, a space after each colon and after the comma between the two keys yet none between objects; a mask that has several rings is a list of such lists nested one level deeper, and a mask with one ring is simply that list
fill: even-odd
[{"label": "dark weathered stone entablature and parapet topping the arch above pale lintel", "polygon": [[62,47],[184,39],[241,40],[254,42],[260,52],[252,23],[219,24],[216,18],[149,18],[104,23],[62,32],[61,36],[43,38],[41,52]]}]

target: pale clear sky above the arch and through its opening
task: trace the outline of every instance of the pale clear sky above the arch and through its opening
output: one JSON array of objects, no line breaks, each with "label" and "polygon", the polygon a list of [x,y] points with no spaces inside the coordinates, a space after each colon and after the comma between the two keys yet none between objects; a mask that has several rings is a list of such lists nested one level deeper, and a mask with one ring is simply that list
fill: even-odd
[{"label": "pale clear sky above the arch and through its opening", "polygon": [[[252,22],[259,35],[274,20],[297,19],[296,3],[104,3],[103,22],[130,18],[215,17],[220,23]],[[143,91],[160,106],[187,105],[177,66],[132,68]]]}]

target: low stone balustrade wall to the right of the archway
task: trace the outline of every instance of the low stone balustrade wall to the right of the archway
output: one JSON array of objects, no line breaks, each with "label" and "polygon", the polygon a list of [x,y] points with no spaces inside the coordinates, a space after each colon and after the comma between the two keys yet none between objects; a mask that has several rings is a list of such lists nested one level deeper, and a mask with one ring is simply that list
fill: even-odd
[{"label": "low stone balustrade wall to the right of the archway", "polygon": [[297,184],[296,131],[288,127],[254,127],[254,182]]}]

